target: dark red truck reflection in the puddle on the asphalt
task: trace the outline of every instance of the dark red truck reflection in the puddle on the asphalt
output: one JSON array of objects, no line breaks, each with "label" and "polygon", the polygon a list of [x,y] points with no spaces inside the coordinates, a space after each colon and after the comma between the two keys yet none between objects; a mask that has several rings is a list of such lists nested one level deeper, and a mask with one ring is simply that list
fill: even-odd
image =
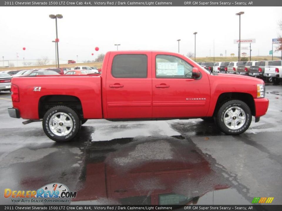
[{"label": "dark red truck reflection in the puddle on the asphalt", "polygon": [[[206,193],[229,188],[224,177],[212,170],[209,162],[187,140],[173,137],[150,139],[147,143],[130,142],[102,156],[101,152],[90,150],[87,154],[94,157],[86,161],[83,188],[77,190],[73,202],[197,204]],[[170,156],[162,159],[150,156],[150,151],[154,150],[161,154],[159,149],[152,149],[152,143],[162,146],[164,154],[170,153]],[[166,148],[165,144],[169,147]],[[144,154],[136,155],[140,147],[144,147]]]}]

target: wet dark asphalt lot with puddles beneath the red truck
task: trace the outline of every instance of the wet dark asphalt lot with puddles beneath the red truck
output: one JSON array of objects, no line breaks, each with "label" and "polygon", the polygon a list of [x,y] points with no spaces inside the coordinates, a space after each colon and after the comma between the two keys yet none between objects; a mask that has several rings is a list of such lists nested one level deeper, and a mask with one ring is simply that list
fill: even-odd
[{"label": "wet dark asphalt lot with puddles beneath the red truck", "polygon": [[266,97],[267,114],[239,136],[201,119],[88,120],[73,142],[56,143],[41,122],[10,118],[11,96],[1,92],[0,204],[15,204],[5,188],[49,183],[77,191],[71,204],[281,204],[282,86],[266,86]]}]

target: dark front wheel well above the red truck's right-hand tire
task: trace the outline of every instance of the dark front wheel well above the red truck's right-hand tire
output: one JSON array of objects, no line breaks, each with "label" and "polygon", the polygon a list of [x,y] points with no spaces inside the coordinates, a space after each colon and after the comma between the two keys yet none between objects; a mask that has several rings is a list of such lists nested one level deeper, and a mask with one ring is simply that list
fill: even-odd
[{"label": "dark front wheel well above the red truck's right-hand tire", "polygon": [[241,100],[244,103],[246,103],[249,108],[251,109],[251,113],[253,116],[256,115],[256,108],[255,108],[255,102],[254,98],[251,94],[248,93],[241,93],[241,92],[227,92],[227,93],[222,93],[217,101],[216,101],[216,107],[214,109],[213,116],[217,113],[219,108],[223,103],[229,100]]}]

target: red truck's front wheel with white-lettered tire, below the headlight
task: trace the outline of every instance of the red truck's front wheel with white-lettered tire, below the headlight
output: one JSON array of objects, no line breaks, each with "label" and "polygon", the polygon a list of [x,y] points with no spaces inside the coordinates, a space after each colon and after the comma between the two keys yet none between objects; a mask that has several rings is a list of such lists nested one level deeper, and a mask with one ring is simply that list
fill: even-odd
[{"label": "red truck's front wheel with white-lettered tire, below the headlight", "polygon": [[227,101],[216,114],[216,123],[219,129],[227,135],[239,135],[245,132],[251,121],[251,109],[240,100]]}]

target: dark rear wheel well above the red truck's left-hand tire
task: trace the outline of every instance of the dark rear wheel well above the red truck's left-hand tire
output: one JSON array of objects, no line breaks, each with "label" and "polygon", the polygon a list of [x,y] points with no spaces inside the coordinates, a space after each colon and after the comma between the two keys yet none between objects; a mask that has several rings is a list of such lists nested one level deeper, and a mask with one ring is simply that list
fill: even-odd
[{"label": "dark rear wheel well above the red truck's left-hand tire", "polygon": [[78,97],[71,95],[46,95],[39,99],[38,115],[43,118],[47,110],[54,106],[68,106],[75,110],[80,119],[83,119],[81,101]]}]

